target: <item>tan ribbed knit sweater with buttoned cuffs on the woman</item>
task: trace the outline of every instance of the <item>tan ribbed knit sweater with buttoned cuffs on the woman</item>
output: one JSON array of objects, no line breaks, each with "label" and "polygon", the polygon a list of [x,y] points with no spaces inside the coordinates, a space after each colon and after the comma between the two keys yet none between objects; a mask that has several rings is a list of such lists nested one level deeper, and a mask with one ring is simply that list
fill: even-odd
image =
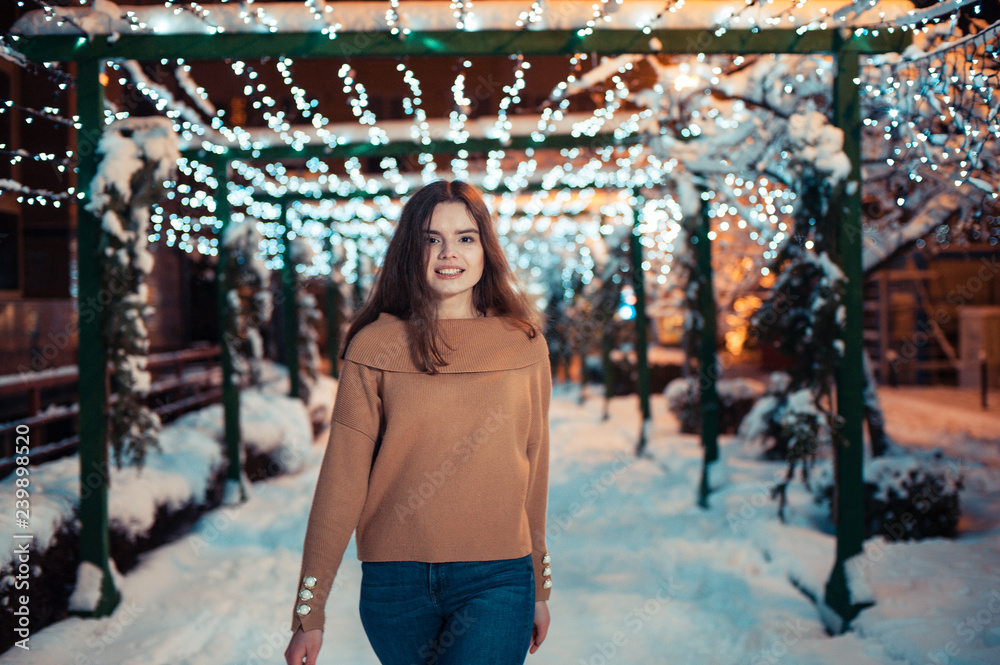
[{"label": "tan ribbed knit sweater with buttoned cuffs on the woman", "polygon": [[548,348],[503,317],[443,319],[448,365],[414,366],[405,323],[351,340],[309,513],[292,631],[323,628],[351,533],[361,561],[490,561],[531,554],[551,586]]}]

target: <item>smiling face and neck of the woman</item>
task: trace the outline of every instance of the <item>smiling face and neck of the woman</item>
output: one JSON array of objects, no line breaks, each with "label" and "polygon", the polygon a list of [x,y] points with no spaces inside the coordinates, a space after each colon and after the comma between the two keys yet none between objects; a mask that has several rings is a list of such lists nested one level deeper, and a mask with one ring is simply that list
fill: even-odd
[{"label": "smiling face and neck of the woman", "polygon": [[427,281],[441,318],[472,318],[472,287],[483,276],[479,228],[464,203],[439,203],[424,238]]}]

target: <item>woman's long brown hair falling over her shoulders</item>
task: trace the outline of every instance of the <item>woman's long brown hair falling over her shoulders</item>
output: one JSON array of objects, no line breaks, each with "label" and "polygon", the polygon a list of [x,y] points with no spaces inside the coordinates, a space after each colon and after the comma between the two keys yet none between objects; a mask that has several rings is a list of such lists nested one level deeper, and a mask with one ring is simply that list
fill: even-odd
[{"label": "woman's long brown hair falling over her shoulders", "polygon": [[359,330],[388,312],[407,321],[410,353],[420,371],[437,374],[437,368],[447,364],[437,345],[437,303],[427,283],[424,244],[434,208],[452,202],[465,205],[483,244],[483,275],[472,288],[473,307],[508,317],[529,338],[541,331],[542,315],[511,272],[482,194],[461,180],[438,180],[421,187],[403,206],[375,286],[344,337],[341,358]]}]

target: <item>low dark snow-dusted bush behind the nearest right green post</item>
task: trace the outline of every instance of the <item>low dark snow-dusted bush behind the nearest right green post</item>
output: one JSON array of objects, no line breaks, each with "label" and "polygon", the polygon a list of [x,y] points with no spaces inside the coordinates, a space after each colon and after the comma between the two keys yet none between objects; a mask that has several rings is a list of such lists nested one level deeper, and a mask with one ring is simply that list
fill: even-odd
[{"label": "low dark snow-dusted bush behind the nearest right green post", "polygon": [[[961,517],[962,473],[942,458],[907,455],[880,457],[865,464],[865,537],[886,540],[954,538]],[[833,505],[833,470],[824,464],[814,474],[817,503]]]}]

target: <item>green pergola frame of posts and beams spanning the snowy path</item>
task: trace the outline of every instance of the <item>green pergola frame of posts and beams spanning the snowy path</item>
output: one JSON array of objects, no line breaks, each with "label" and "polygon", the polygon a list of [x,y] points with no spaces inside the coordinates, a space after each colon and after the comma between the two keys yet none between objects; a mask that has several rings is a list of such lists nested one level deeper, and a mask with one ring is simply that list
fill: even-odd
[{"label": "green pergola frame of posts and beams spanning the snowy path", "polygon": [[[655,38],[655,40],[654,40]],[[738,29],[717,33],[714,30],[608,30],[595,29],[582,35],[575,30],[485,30],[485,31],[434,31],[411,32],[405,39],[387,32],[339,33],[335,39],[318,33],[275,33],[275,34],[188,34],[149,35],[123,34],[116,39],[108,36],[94,36],[90,39],[66,35],[21,36],[15,47],[28,58],[38,61],[76,61],[78,114],[78,185],[84,192],[84,200],[78,205],[78,251],[79,251],[79,301],[96,298],[101,289],[100,264],[97,247],[100,239],[100,223],[85,209],[89,201],[89,186],[97,167],[96,140],[103,127],[103,89],[99,74],[103,63],[109,58],[132,59],[172,59],[186,61],[218,60],[222,58],[260,58],[265,56],[291,56],[311,58],[348,57],[417,57],[417,56],[508,56],[560,55],[574,53],[594,53],[614,55],[622,53],[662,53],[662,54],[778,54],[778,53],[827,53],[835,57],[836,73],[833,90],[834,124],[844,132],[843,150],[851,160],[845,198],[842,200],[841,220],[838,228],[834,254],[835,260],[847,277],[844,305],[847,311],[844,331],[844,355],[837,375],[836,406],[843,418],[841,440],[843,446],[837,451],[836,474],[838,491],[835,500],[837,515],[836,561],[827,582],[825,598],[827,606],[835,610],[843,621],[849,622],[861,609],[852,603],[847,584],[846,562],[859,554],[863,548],[864,528],[862,498],[863,461],[863,405],[861,395],[864,389],[862,368],[862,264],[861,264],[861,118],[859,101],[860,66],[858,58],[862,54],[900,52],[911,41],[905,30],[883,29],[881,31],[854,31],[849,28],[834,30],[783,30],[783,29]],[[654,48],[655,45],[655,48]],[[83,141],[90,142],[90,150],[84,151]],[[586,146],[590,139],[578,137],[573,147]],[[512,143],[515,139],[512,138]],[[525,147],[551,147],[549,145],[526,145],[528,137],[520,137],[518,145]],[[438,141],[434,151],[475,152],[484,144],[466,142],[462,144]],[[603,145],[607,145],[604,143]],[[475,147],[474,147],[475,146]],[[227,199],[228,166],[233,159],[284,159],[316,156],[333,156],[343,151],[344,155],[378,154],[385,146],[358,145],[330,148],[310,147],[307,150],[263,149],[260,151],[223,150],[220,153],[193,152],[190,157],[209,162],[215,166],[219,182],[216,192],[216,214],[224,229],[229,217]],[[428,152],[426,146],[413,143],[409,153]],[[497,144],[492,149],[512,149],[513,145]],[[392,150],[405,150],[402,145]],[[525,149],[525,148],[517,148]],[[351,152],[353,151],[353,152]],[[284,208],[284,206],[283,206]],[[699,214],[699,211],[685,211]],[[637,236],[638,214],[634,220],[633,235]],[[220,229],[220,232],[223,230]],[[287,238],[287,229],[286,229]],[[706,236],[707,239],[707,236]],[[641,247],[634,238],[633,261],[636,262],[633,276],[637,288],[637,304],[644,303],[642,297]],[[287,251],[287,250],[286,250]],[[705,258],[702,257],[702,262]],[[225,251],[220,243],[219,265],[224,265]],[[219,303],[225,304],[226,280],[220,273]],[[287,271],[286,271],[287,272]],[[710,302],[707,295],[700,298],[702,303]],[[707,306],[707,305],[706,305]],[[709,313],[714,319],[714,305]],[[220,310],[221,311],[221,310]],[[108,458],[105,412],[107,395],[105,392],[105,349],[101,339],[100,317],[81,320],[79,340],[80,383],[87,390],[80,393],[80,463],[81,477],[98,471],[107,477]],[[637,312],[637,321],[645,321],[645,312]],[[294,323],[293,323],[294,325]],[[223,340],[224,341],[224,340]],[[705,344],[706,347],[714,347]],[[713,349],[714,351],[714,349]],[[646,367],[646,349],[637,345],[640,368]],[[700,383],[707,383],[714,391],[714,353],[704,351]],[[704,365],[705,363],[711,364]],[[226,438],[230,452],[230,478],[239,482],[239,421],[238,395],[232,385],[232,359],[223,343],[223,376],[228,387],[225,391]],[[290,368],[290,373],[292,368]],[[643,404],[643,428],[648,420],[648,371],[640,371],[644,376],[639,390]],[[294,384],[293,384],[294,385]],[[235,456],[234,456],[235,454]],[[232,469],[236,467],[235,478]],[[82,522],[81,558],[100,567],[104,575],[101,601],[93,613],[109,614],[118,602],[119,594],[114,588],[108,567],[107,493],[106,486],[81,498],[80,515]],[[820,599],[816,599],[819,602]]]}]

